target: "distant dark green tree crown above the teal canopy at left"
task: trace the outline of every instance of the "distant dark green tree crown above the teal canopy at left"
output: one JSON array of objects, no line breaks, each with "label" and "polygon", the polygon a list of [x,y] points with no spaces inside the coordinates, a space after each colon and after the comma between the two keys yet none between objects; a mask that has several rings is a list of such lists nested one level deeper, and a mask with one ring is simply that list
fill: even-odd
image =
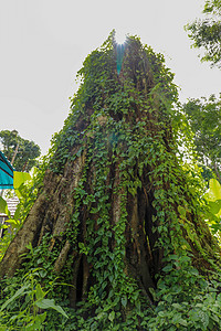
[{"label": "distant dark green tree crown above the teal canopy at left", "polygon": [[38,163],[41,154],[40,147],[33,141],[23,139],[17,130],[0,131],[2,152],[13,163],[17,171],[29,171]]}]

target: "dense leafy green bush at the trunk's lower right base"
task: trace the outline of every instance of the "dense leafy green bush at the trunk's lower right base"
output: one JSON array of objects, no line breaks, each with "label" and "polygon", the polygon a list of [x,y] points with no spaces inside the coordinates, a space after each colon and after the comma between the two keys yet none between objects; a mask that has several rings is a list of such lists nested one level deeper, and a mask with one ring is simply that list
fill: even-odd
[{"label": "dense leafy green bush at the trunk's lower right base", "polygon": [[220,329],[220,284],[209,284],[189,263],[188,256],[169,257],[154,291],[158,306],[141,323],[145,330]]}]

